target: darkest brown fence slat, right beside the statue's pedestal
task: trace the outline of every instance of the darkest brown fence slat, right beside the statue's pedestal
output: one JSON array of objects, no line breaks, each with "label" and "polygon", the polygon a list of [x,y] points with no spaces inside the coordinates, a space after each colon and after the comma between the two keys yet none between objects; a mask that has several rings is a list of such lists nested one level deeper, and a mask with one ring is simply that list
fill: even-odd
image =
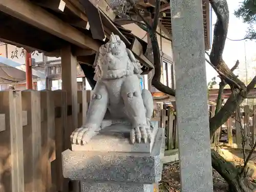
[{"label": "darkest brown fence slat, right beside the statue's pedestal", "polygon": [[55,105],[55,151],[56,151],[56,185],[57,191],[68,192],[68,181],[62,175],[61,153],[69,148],[70,135],[67,132],[67,92],[53,91]]}]

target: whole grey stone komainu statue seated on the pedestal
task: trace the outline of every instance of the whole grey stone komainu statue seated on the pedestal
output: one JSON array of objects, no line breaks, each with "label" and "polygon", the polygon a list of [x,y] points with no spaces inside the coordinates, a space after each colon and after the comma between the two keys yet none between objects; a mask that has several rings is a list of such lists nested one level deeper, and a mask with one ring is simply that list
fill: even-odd
[{"label": "whole grey stone komainu statue seated on the pedestal", "polygon": [[109,42],[99,48],[94,66],[97,83],[86,124],[72,133],[71,141],[85,144],[98,133],[103,119],[124,119],[132,125],[132,143],[151,142],[153,98],[148,90],[141,90],[141,65],[132,51],[112,33]]}]

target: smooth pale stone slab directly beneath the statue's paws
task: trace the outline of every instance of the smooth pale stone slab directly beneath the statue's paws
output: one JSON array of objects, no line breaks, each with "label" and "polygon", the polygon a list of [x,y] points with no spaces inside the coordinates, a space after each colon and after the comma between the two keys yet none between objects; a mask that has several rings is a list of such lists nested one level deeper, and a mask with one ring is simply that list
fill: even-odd
[{"label": "smooth pale stone slab directly beneath the statue's paws", "polygon": [[99,152],[140,152],[151,153],[155,138],[157,137],[158,123],[152,122],[153,140],[151,143],[135,143],[130,140],[130,124],[114,124],[100,130],[99,134],[94,136],[89,143],[85,145],[72,144],[72,151],[99,151]]}]

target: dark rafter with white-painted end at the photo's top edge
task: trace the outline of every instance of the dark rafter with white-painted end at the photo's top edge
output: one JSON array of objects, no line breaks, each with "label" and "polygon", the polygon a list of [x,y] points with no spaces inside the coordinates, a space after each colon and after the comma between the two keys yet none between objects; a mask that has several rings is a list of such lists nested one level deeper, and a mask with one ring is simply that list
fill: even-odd
[{"label": "dark rafter with white-painted end at the photo's top edge", "polygon": [[55,11],[61,11],[63,12],[66,6],[66,3],[62,0],[30,0],[31,2],[45,7],[49,8]]}]

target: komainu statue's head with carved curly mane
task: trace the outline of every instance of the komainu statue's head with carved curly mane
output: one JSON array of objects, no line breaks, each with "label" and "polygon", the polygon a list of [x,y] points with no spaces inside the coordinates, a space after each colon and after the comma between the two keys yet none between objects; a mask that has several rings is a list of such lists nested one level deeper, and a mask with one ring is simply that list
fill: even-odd
[{"label": "komainu statue's head with carved curly mane", "polygon": [[131,50],[127,49],[118,35],[113,33],[109,42],[102,45],[96,54],[95,80],[116,79],[141,73],[141,65]]}]

